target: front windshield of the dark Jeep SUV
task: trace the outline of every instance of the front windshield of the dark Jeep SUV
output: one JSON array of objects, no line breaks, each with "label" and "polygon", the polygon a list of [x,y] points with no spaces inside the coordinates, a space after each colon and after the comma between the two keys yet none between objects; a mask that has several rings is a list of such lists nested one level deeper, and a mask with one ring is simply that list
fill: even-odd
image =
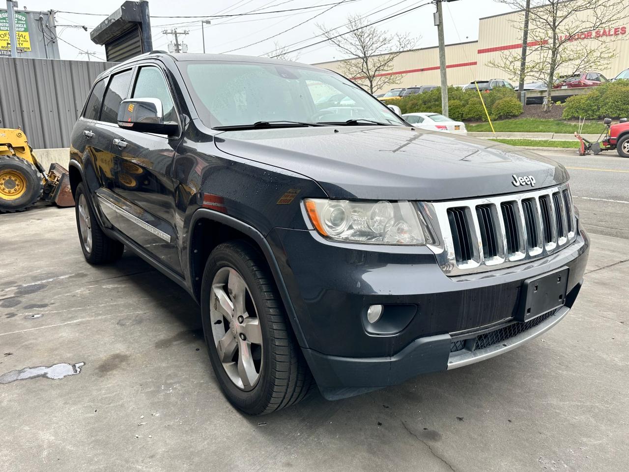
[{"label": "front windshield of the dark Jeep SUV", "polygon": [[199,117],[210,128],[268,121],[347,120],[404,126],[400,118],[369,93],[326,70],[220,61],[182,61],[177,66]]}]

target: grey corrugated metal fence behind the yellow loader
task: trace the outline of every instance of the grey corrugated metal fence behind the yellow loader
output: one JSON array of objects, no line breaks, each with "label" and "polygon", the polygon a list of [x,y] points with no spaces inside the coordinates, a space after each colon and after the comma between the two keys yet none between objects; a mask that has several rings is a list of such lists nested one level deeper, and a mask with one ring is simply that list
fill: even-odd
[{"label": "grey corrugated metal fence behind the yellow loader", "polygon": [[21,128],[35,149],[70,146],[96,76],[116,62],[0,59],[0,128]]}]

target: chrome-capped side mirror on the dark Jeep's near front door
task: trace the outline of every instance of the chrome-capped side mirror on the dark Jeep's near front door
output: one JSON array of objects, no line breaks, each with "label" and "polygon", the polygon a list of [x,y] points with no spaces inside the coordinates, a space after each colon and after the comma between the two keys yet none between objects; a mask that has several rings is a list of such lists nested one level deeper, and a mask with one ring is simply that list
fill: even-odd
[{"label": "chrome-capped side mirror on the dark Jeep's near front door", "polygon": [[174,135],[179,129],[174,121],[164,121],[162,101],[159,98],[123,100],[118,108],[118,126],[160,135]]}]

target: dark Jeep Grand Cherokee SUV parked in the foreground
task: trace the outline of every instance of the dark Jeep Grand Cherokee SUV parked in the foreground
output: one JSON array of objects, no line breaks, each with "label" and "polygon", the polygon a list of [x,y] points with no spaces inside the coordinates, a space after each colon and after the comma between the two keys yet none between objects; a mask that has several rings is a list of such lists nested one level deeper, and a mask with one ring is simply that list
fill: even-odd
[{"label": "dark Jeep Grand Cherokee SUV parked in the foreground", "polygon": [[87,261],[127,247],[186,288],[248,413],[315,382],[343,398],[509,351],[565,317],[587,261],[564,167],[416,130],[293,62],[117,65],[74,126],[69,169]]}]

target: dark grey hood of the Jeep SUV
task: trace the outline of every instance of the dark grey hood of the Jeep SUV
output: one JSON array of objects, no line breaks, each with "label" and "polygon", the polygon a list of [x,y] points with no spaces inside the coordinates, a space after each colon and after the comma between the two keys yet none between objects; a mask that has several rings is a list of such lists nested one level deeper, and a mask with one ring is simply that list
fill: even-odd
[{"label": "dark grey hood of the Jeep SUV", "polygon": [[223,132],[223,152],[318,182],[330,198],[444,200],[564,183],[565,168],[501,143],[401,126],[321,126]]}]

